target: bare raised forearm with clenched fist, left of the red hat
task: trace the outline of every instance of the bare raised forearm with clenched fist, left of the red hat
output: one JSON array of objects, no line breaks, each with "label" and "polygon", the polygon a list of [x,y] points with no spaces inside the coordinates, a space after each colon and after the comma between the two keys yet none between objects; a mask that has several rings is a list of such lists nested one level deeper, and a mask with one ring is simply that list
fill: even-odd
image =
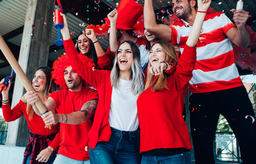
[{"label": "bare raised forearm with clenched fist, left of the red hat", "polygon": [[109,45],[111,52],[115,53],[117,51],[117,10],[114,9],[112,12],[108,14],[108,19],[110,20],[110,35],[109,35]]}]

